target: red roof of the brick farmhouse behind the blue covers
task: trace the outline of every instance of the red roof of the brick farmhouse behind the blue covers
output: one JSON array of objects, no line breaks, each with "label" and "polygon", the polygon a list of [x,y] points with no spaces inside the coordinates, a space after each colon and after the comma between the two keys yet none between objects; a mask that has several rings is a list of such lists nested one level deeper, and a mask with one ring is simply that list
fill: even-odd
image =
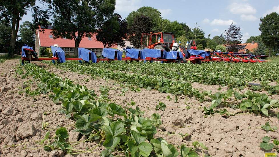
[{"label": "red roof of the brick farmhouse behind the blue covers", "polygon": [[[57,39],[53,39],[51,37],[52,34],[50,33],[52,31],[52,29],[45,29],[45,31],[40,31],[40,29],[37,29],[36,34],[39,33],[39,44],[40,47],[50,47],[53,44],[58,44],[59,47],[75,47],[75,42],[74,39],[70,40],[70,39],[63,39],[63,38],[57,38]],[[91,41],[89,40],[88,37],[83,37],[81,39],[80,45],[79,47],[84,47],[84,48],[104,48],[103,43],[97,41],[96,39],[96,34],[93,34],[91,37]],[[116,48],[116,46],[114,46],[114,48]]]}]

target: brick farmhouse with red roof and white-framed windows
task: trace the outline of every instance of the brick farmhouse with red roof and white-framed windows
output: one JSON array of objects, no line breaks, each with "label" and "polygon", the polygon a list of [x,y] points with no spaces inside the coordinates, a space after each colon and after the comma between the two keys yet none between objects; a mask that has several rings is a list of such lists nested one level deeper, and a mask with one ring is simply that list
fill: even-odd
[{"label": "brick farmhouse with red roof and white-framed windows", "polygon": [[[44,30],[44,31],[43,31]],[[39,52],[40,47],[50,47],[51,45],[58,44],[59,47],[63,49],[63,51],[67,55],[74,55],[75,51],[75,42],[74,39],[66,39],[66,38],[57,38],[53,39],[53,35],[50,33],[52,31],[52,26],[48,26],[47,28],[43,26],[39,26],[39,29],[36,30],[36,39],[35,39],[35,51]],[[83,37],[79,47],[86,48],[90,51],[97,53],[97,55],[101,55],[104,45],[103,43],[97,41],[96,35],[92,35],[92,37]],[[115,46],[114,48],[116,48]]]}]

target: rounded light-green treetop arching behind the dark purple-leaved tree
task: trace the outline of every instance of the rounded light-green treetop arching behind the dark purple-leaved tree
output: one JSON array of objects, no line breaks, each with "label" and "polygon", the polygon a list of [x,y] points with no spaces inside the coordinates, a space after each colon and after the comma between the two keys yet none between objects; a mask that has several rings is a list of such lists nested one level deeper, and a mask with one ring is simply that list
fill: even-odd
[{"label": "rounded light-green treetop arching behind the dark purple-leaved tree", "polygon": [[144,15],[149,17],[152,23],[151,31],[152,32],[159,32],[161,31],[161,13],[157,9],[153,7],[141,7],[137,11],[132,11],[127,17],[128,28],[132,26],[134,19],[140,15]]}]

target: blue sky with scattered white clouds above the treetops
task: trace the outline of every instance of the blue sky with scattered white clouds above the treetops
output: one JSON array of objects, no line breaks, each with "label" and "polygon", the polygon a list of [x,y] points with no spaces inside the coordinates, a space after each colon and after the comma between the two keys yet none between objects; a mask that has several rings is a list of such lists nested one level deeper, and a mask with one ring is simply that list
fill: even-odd
[{"label": "blue sky with scattered white clouds above the treetops", "polygon": [[[260,35],[260,17],[279,13],[279,0],[116,0],[115,12],[126,18],[131,11],[143,6],[154,7],[163,18],[187,23],[192,28],[197,22],[205,36],[211,34],[211,38],[223,33],[234,21],[241,28],[242,42]],[[27,20],[32,21],[30,12],[21,23]]]}]

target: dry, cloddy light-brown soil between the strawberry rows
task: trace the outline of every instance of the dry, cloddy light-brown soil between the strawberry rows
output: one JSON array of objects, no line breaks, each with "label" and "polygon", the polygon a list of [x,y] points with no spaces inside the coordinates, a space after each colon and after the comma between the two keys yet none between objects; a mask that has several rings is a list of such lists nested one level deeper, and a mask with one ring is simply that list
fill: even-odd
[{"label": "dry, cloddy light-brown soil between the strawberry rows", "polygon": [[[41,149],[23,149],[35,148],[40,145],[30,142],[17,147],[5,147],[6,145],[21,144],[23,142],[41,140],[47,130],[41,129],[42,122],[48,122],[48,128],[56,126],[68,126],[74,124],[72,120],[66,119],[63,114],[56,113],[61,108],[52,102],[48,95],[36,96],[37,100],[32,97],[26,97],[25,92],[19,94],[24,81],[15,73],[14,68],[18,60],[9,60],[0,64],[0,155],[1,156],[50,156],[49,152]],[[157,90],[141,89],[140,92],[127,91],[122,95],[121,83],[113,80],[104,80],[101,78],[93,79],[91,76],[82,75],[70,71],[63,71],[56,67],[43,63],[36,63],[48,69],[49,72],[56,73],[61,77],[68,77],[75,83],[85,85],[89,89],[95,90],[97,95],[100,86],[110,88],[109,97],[123,107],[133,100],[136,106],[145,110],[145,116],[151,116],[153,113],[159,113],[163,124],[157,130],[157,137],[165,138],[169,143],[180,146],[185,144],[191,146],[193,141],[203,142],[209,150],[208,154],[218,157],[262,157],[264,150],[260,149],[262,137],[270,136],[279,138],[278,131],[265,132],[260,128],[265,122],[269,121],[272,126],[279,126],[276,117],[263,117],[256,114],[236,114],[235,116],[222,117],[218,114],[205,116],[202,113],[204,106],[209,106],[210,102],[200,103],[193,97],[179,96],[177,103],[174,102],[175,96],[166,93],[160,93]],[[30,78],[29,78],[30,79]],[[88,82],[87,80],[88,79]],[[35,88],[36,82],[32,88]],[[193,84],[197,89],[217,91],[219,86],[209,86]],[[20,88],[21,87],[21,88]],[[227,90],[222,87],[221,91]],[[167,100],[170,95],[172,100]],[[278,99],[278,96],[275,96]],[[164,111],[156,111],[155,106],[159,102],[164,102],[167,108]],[[133,106],[135,107],[135,106]],[[232,108],[227,108],[229,112],[237,112]],[[43,115],[47,112],[47,115]],[[73,130],[74,127],[67,127]],[[54,134],[54,131],[50,131]],[[190,136],[182,139],[181,134],[188,133]],[[74,141],[80,140],[80,135],[71,132],[71,138]],[[86,147],[92,148],[99,141],[85,142],[75,146],[76,149],[85,150]],[[97,148],[100,152],[103,148]],[[59,154],[63,156],[63,154]],[[76,155],[75,155],[76,156]],[[79,156],[99,156],[97,154],[79,154]]]}]

